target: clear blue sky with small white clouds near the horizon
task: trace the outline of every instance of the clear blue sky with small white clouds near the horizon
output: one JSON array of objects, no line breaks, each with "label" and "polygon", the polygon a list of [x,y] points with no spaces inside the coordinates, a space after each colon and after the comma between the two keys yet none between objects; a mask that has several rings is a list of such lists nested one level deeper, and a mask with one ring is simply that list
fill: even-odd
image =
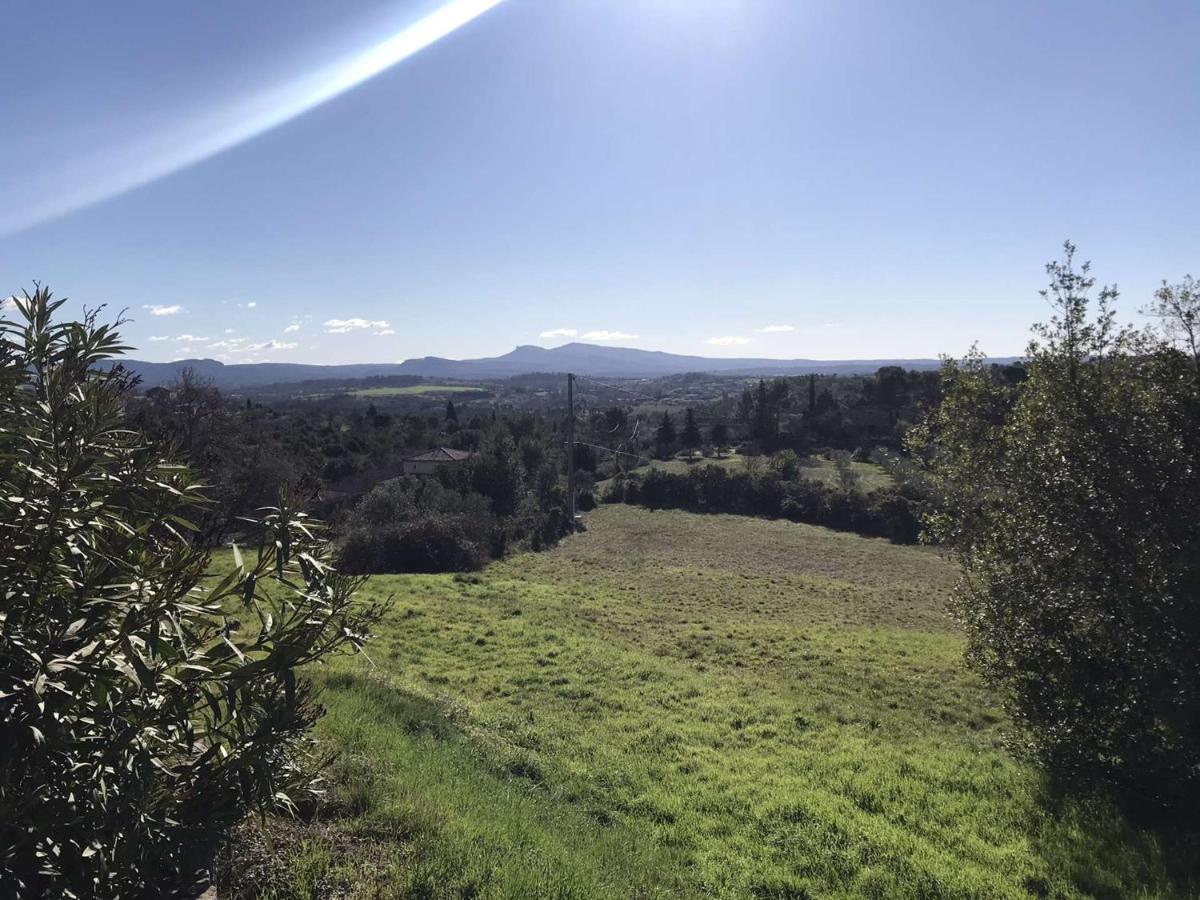
[{"label": "clear blue sky with small white clouds near the horizon", "polygon": [[1200,275],[1195,0],[0,18],[0,296],[139,359],[1010,355],[1064,239],[1127,318]]}]

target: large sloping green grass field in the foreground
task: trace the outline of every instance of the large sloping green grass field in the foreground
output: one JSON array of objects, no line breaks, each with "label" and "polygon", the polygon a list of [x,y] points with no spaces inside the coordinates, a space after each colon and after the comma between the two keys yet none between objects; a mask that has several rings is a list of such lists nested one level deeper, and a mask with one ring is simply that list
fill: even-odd
[{"label": "large sloping green grass field in the foreground", "polygon": [[1194,854],[1104,802],[1051,796],[1006,754],[937,553],[623,505],[587,524],[479,575],[371,582],[395,599],[373,662],[317,672],[338,754],[329,803],[269,822],[269,845],[246,826],[244,895],[1200,887]]}]

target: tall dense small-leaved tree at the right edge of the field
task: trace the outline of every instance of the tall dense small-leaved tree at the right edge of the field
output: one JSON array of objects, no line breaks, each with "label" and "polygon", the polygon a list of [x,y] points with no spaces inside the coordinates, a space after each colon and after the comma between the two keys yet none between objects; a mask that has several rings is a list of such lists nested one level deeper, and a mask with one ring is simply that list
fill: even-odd
[{"label": "tall dense small-leaved tree at the right edge of the field", "polygon": [[1166,802],[1200,780],[1200,390],[1189,354],[1118,328],[1116,290],[1051,263],[1026,377],[978,353],[910,436],[964,568],[968,659],[1057,773]]}]

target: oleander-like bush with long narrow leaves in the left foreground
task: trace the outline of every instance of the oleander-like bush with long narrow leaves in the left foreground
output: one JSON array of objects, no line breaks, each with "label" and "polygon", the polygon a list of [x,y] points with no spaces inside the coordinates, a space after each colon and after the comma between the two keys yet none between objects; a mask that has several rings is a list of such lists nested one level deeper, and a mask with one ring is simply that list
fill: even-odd
[{"label": "oleander-like bush with long narrow leaves in the left foreground", "polygon": [[46,289],[0,319],[0,886],[186,888],[247,810],[312,788],[296,670],[382,610],[288,503],[211,572],[188,469],[130,428],[115,328]]}]

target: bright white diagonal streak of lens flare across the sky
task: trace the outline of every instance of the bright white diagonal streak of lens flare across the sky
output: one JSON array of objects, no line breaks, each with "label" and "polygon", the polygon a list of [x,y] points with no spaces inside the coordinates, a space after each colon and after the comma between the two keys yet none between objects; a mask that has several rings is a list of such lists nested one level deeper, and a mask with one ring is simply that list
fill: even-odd
[{"label": "bright white diagonal streak of lens flare across the sky", "polygon": [[[95,154],[53,190],[0,209],[0,236],[24,230],[203,162],[373,78],[479,18],[503,0],[451,0],[384,41],[316,72],[192,115],[169,133],[148,134]],[[131,163],[132,161],[132,163]]]}]

